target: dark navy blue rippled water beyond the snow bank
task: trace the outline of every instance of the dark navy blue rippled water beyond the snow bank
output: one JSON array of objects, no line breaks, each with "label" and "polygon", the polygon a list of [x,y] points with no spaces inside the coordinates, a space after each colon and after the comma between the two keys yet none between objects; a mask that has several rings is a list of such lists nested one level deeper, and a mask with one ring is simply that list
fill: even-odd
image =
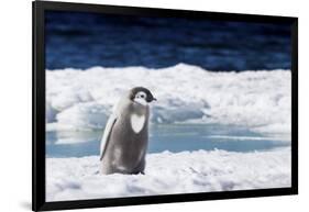
[{"label": "dark navy blue rippled water beyond the snow bank", "polygon": [[46,68],[290,68],[290,25],[46,12]]}]

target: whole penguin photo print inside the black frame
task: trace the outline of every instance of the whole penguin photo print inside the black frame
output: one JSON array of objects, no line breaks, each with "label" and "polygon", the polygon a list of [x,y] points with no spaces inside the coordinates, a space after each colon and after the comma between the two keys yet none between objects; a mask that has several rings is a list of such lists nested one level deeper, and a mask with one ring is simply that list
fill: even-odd
[{"label": "whole penguin photo print inside the black frame", "polygon": [[44,24],[46,202],[291,187],[291,24]]}]

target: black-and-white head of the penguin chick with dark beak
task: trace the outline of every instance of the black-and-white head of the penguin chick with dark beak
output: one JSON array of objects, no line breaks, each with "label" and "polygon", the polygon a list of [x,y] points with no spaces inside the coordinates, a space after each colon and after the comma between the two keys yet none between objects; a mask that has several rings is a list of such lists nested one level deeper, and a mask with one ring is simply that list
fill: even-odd
[{"label": "black-and-white head of the penguin chick with dark beak", "polygon": [[144,87],[135,87],[130,90],[130,100],[142,105],[147,105],[152,101],[156,101],[156,98],[152,92]]}]

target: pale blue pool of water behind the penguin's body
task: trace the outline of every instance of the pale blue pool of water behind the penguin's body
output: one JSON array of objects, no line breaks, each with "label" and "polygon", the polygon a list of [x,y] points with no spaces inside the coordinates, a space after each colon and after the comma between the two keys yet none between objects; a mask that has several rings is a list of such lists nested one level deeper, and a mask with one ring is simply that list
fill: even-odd
[{"label": "pale blue pool of water behind the penguin's body", "polygon": [[[102,131],[47,132],[47,157],[99,155],[101,136]],[[290,142],[283,137],[286,136],[265,136],[244,127],[228,125],[159,124],[151,127],[148,153],[216,148],[232,152],[268,150],[289,146]]]}]

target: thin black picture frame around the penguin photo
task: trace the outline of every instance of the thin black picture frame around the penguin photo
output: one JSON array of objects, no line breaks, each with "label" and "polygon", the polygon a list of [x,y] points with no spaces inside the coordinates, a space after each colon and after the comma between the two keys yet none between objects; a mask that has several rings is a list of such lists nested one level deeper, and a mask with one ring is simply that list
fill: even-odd
[{"label": "thin black picture frame around the penguin photo", "polygon": [[[170,9],[101,5],[52,1],[32,2],[33,11],[33,143],[32,143],[32,210],[66,210],[100,207],[120,207],[167,202],[202,201],[298,193],[298,19],[291,16],[271,16],[255,14],[235,14],[221,12],[201,12]],[[164,194],[152,197],[132,197],[114,199],[45,201],[45,41],[44,13],[53,11],[79,11],[96,13],[180,16],[209,20],[230,20],[245,22],[272,22],[291,24],[291,187],[257,190],[220,191],[203,193]]]}]

